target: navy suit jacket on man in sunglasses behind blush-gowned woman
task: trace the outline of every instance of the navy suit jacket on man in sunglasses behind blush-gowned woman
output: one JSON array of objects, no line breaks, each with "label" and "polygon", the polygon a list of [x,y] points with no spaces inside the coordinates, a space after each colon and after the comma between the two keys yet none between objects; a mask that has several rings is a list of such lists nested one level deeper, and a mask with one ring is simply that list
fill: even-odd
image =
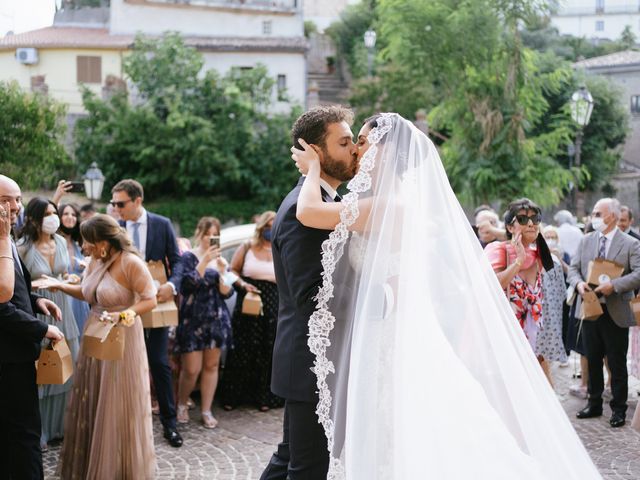
[{"label": "navy suit jacket on man in sunglasses behind blush-gowned woman", "polygon": [[[126,222],[120,222],[126,228]],[[176,266],[180,262],[180,251],[176,234],[171,221],[162,215],[156,215],[147,210],[147,243],[145,261],[162,261],[167,278],[180,291],[180,279],[175,277]],[[174,275],[174,276],[172,276]]]}]

